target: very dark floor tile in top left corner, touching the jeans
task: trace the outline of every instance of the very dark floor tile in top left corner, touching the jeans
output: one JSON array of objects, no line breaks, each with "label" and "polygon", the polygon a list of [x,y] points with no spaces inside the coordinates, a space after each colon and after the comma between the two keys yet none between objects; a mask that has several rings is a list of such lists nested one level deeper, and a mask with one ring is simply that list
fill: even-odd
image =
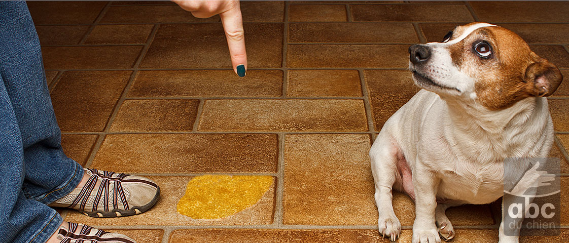
[{"label": "very dark floor tile in top left corner, touching the jeans", "polygon": [[108,1],[28,1],[35,24],[91,24]]}]

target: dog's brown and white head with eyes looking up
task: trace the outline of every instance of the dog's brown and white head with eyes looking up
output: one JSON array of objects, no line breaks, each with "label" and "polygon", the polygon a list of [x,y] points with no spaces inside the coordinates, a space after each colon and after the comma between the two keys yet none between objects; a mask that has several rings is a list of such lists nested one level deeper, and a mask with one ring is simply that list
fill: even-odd
[{"label": "dog's brown and white head with eyes looking up", "polygon": [[473,99],[490,110],[551,95],[563,79],[516,33],[480,22],[456,27],[443,42],[411,45],[409,60],[417,86],[441,97]]}]

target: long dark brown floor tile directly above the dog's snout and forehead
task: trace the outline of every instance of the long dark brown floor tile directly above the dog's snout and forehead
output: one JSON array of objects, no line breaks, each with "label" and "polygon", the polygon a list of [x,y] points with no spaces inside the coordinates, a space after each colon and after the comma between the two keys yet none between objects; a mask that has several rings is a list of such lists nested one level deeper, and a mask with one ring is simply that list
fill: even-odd
[{"label": "long dark brown floor tile directly above the dog's snout and forehead", "polygon": [[473,22],[464,5],[352,5],[354,21]]}]

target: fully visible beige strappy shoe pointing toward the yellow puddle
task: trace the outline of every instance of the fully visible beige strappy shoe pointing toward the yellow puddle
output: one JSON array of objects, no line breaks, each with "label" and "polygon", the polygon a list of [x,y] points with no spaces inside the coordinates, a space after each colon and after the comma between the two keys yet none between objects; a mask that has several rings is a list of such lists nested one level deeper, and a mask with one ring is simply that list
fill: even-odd
[{"label": "fully visible beige strappy shoe pointing toward the yellow puddle", "polygon": [[[149,210],[160,196],[160,187],[144,177],[85,169],[89,181],[51,203],[73,208],[91,217],[121,217]],[[97,188],[96,188],[97,187]]]}]

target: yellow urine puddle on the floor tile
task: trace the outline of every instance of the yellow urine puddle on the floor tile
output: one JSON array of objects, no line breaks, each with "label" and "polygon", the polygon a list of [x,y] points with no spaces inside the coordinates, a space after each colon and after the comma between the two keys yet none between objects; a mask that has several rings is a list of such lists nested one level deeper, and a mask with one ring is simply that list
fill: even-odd
[{"label": "yellow urine puddle on the floor tile", "polygon": [[269,175],[194,177],[178,202],[178,212],[193,219],[221,219],[253,206],[271,185]]}]

